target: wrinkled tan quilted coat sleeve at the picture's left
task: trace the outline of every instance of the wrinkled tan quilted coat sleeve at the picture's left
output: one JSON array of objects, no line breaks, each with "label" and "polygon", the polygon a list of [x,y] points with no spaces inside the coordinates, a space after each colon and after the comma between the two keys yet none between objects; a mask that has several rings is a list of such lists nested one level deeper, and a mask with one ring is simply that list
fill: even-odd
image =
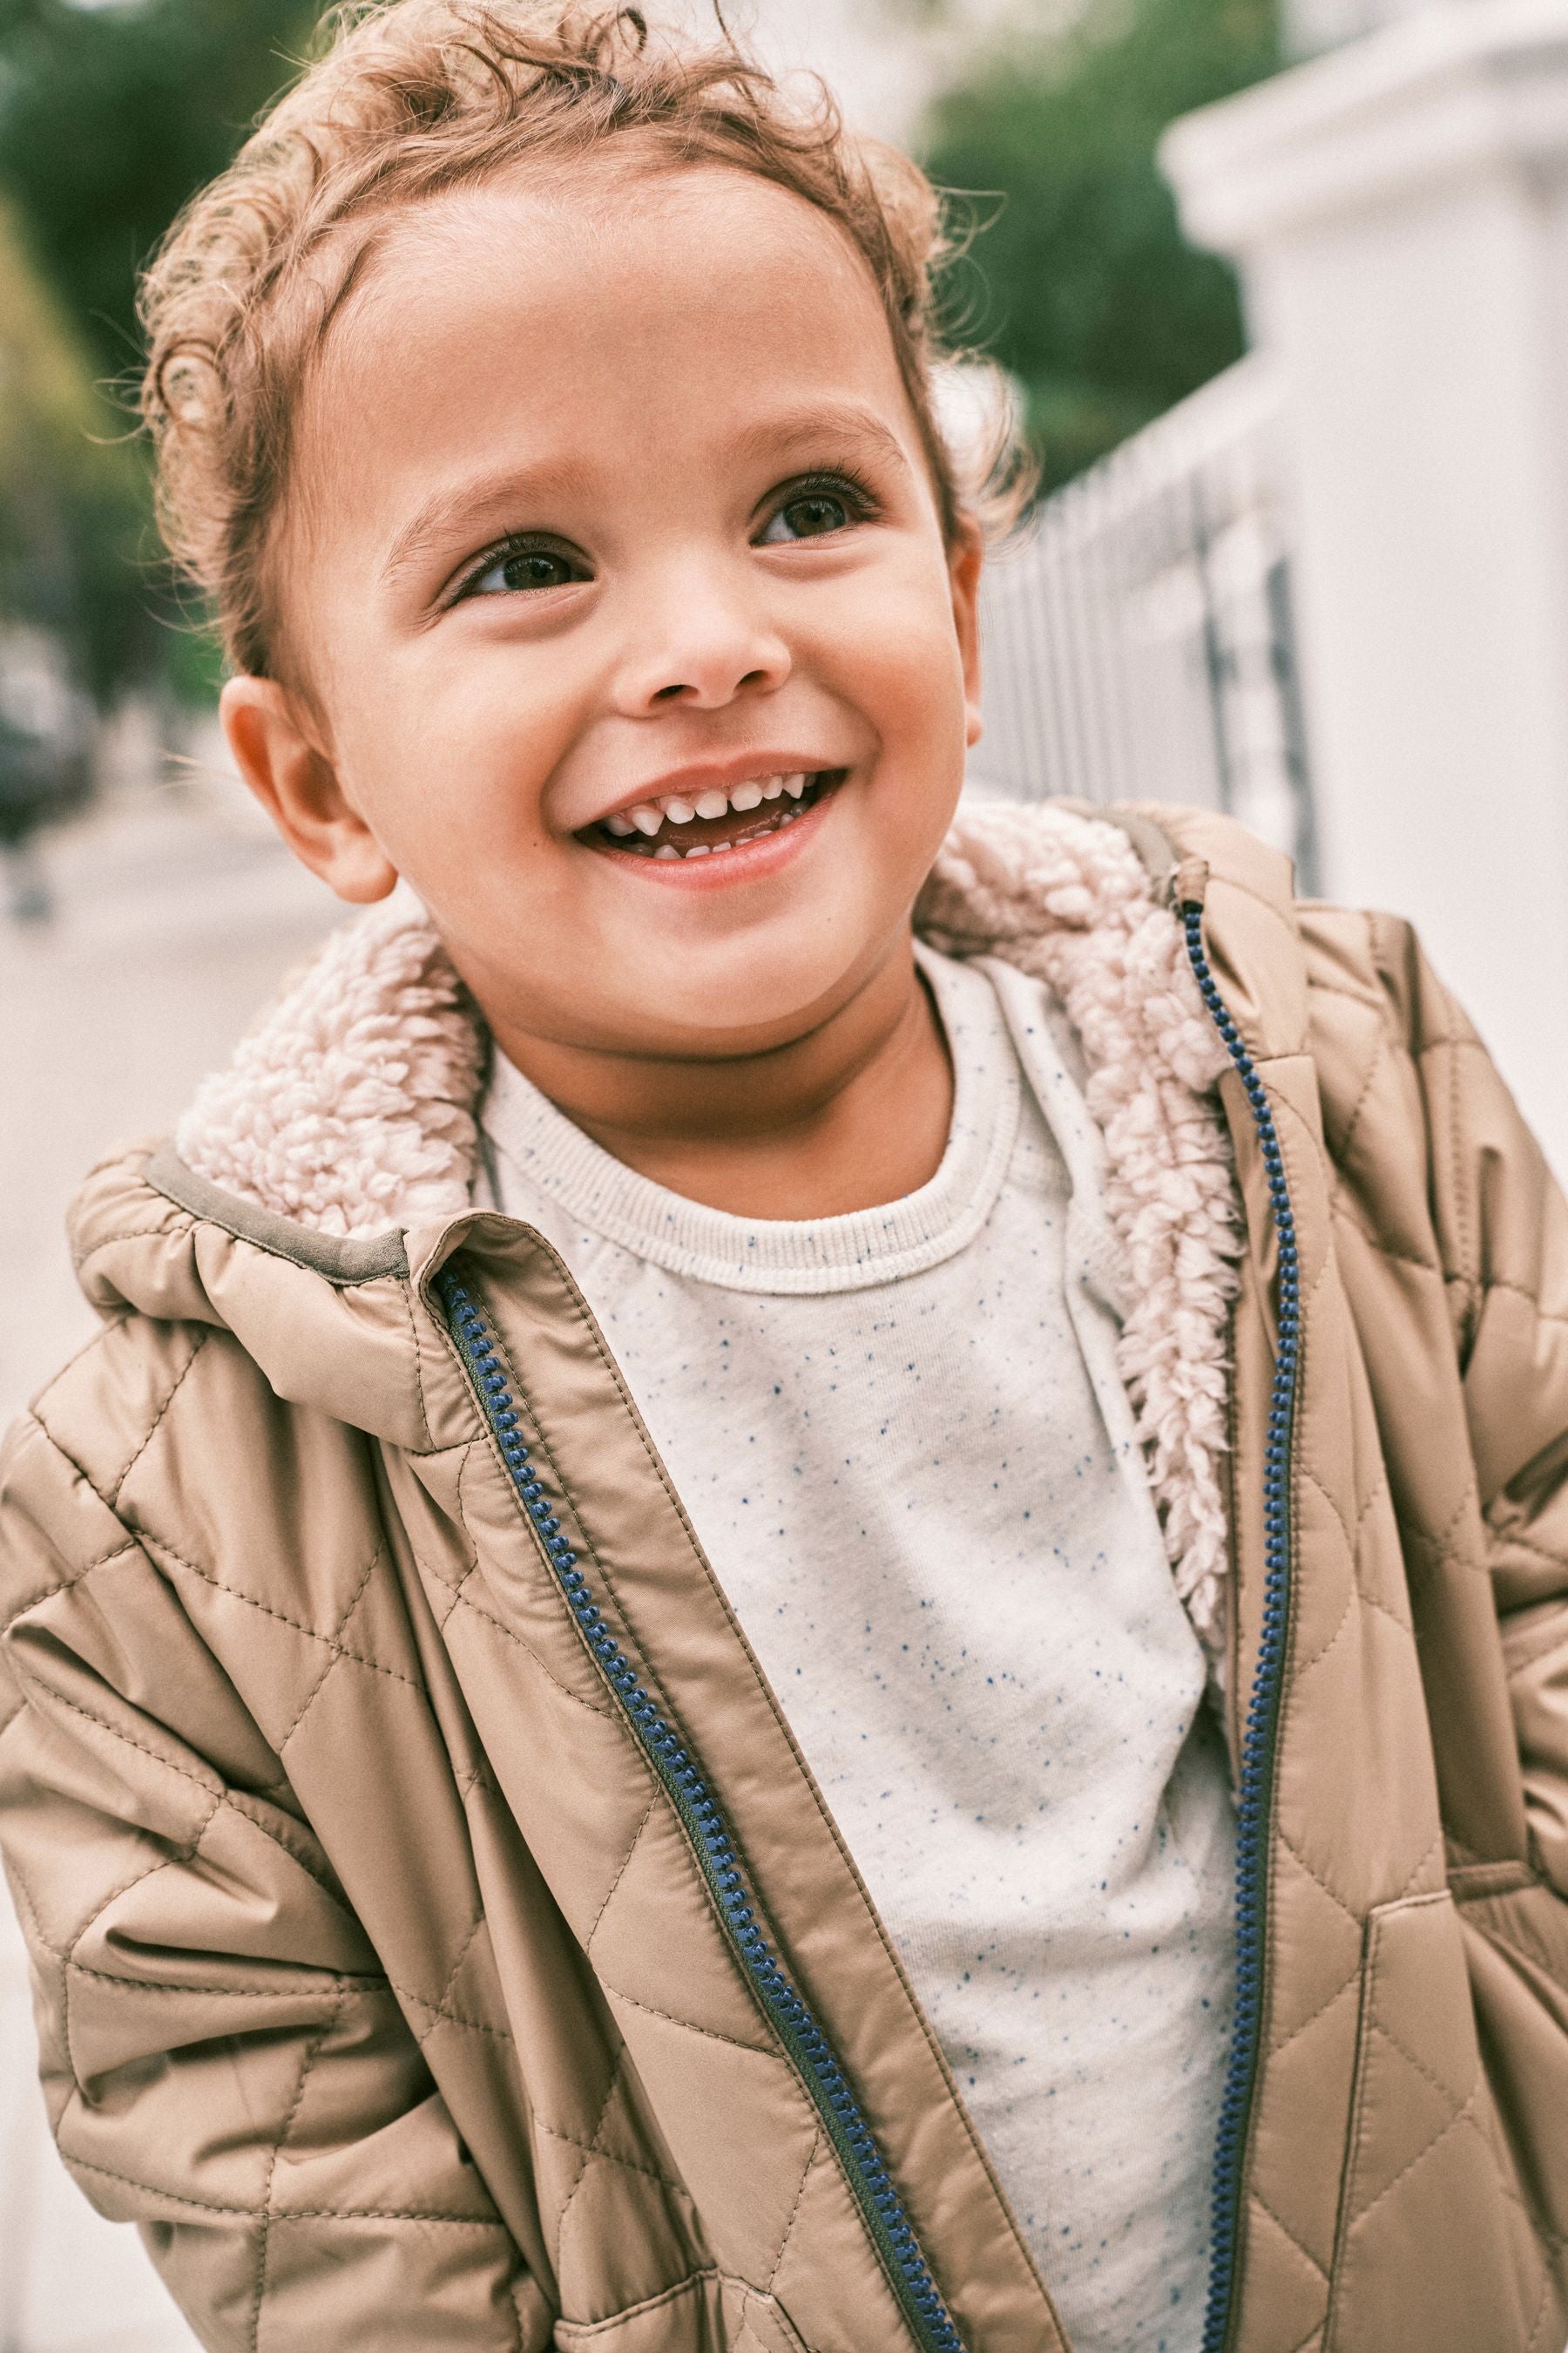
[{"label": "wrinkled tan quilted coat sleeve at the picture's left", "polygon": [[552,2341],[277,1755],[38,1421],[0,1468],[0,1845],[92,2202],[223,2353]]}]

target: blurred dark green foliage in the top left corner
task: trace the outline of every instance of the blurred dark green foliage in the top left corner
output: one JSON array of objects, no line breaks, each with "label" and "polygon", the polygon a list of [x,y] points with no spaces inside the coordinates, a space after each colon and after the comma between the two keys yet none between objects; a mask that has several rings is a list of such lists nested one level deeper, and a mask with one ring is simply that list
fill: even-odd
[{"label": "blurred dark green foliage in the top left corner", "polygon": [[207,694],[212,666],[169,626],[146,449],[92,379],[134,379],[139,266],[289,78],[315,16],[301,0],[0,0],[2,365],[42,400],[19,435],[28,461],[7,466],[0,442],[0,598],[56,616],[99,701],[153,678]]}]

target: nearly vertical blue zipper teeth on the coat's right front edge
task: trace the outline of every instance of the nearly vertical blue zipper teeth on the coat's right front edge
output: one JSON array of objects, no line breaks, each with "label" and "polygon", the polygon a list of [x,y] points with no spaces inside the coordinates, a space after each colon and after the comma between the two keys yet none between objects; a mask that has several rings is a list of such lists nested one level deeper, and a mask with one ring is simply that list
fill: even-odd
[{"label": "nearly vertical blue zipper teeth on the coat's right front edge", "polygon": [[1187,955],[1204,1005],[1229,1049],[1246,1087],[1246,1101],[1262,1144],[1262,1165],[1279,1240],[1279,1353],[1269,1395],[1269,1438],[1262,1480],[1262,1645],[1258,1673],[1241,1734],[1241,1777],[1237,1791],[1237,2019],[1220,2101],[1220,2132],[1213,2165],[1213,2240],[1208,2257],[1208,2311],[1201,2353],[1222,2353],[1237,2292],[1237,2242],[1241,2221],[1241,2153],[1258,2080],[1258,2038],[1262,2028],[1262,1929],[1267,1911],[1267,1824],[1274,1784],[1274,1732],[1279,1720],[1279,1685],[1286,1659],[1286,1619],[1291,1605],[1291,1428],[1300,1374],[1300,1264],[1295,1252],[1295,1214],[1286,1186],[1279,1129],[1262,1080],[1241,1042],[1241,1031],[1215,988],[1204,955],[1204,908],[1182,904]]}]

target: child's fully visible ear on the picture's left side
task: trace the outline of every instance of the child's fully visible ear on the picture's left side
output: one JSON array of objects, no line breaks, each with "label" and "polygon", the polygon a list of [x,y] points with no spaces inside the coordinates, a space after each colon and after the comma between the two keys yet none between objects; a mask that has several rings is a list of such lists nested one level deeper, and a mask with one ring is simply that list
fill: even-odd
[{"label": "child's fully visible ear on the picture's left side", "polygon": [[301,866],[339,899],[386,899],[397,868],[343,793],[301,699],[275,678],[230,678],[219,718],[240,774]]}]

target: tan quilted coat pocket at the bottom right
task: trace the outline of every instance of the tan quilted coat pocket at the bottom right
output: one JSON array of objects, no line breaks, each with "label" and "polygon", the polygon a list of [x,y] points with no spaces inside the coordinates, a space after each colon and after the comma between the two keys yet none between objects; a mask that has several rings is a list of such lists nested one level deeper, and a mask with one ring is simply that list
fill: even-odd
[{"label": "tan quilted coat pocket at the bottom right", "polygon": [[1514,2224],[1453,1897],[1380,1904],[1324,2353],[1526,2353],[1540,2294]]}]

